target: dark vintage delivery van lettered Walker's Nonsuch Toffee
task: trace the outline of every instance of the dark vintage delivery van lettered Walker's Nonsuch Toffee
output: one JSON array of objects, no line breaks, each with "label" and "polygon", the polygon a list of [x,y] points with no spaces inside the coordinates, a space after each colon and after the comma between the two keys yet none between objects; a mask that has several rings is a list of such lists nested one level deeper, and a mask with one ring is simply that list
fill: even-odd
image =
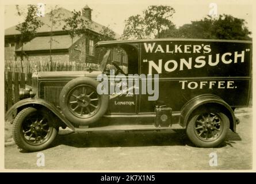
[{"label": "dark vintage delivery van lettered Walker's Nonsuch Toffee", "polygon": [[[48,147],[59,127],[184,130],[196,146],[216,147],[229,129],[236,131],[235,108],[249,105],[251,41],[102,41],[95,47],[102,52],[98,70],[39,72],[20,91],[21,101],[6,114],[20,148]],[[127,62],[113,61],[114,48]]]}]

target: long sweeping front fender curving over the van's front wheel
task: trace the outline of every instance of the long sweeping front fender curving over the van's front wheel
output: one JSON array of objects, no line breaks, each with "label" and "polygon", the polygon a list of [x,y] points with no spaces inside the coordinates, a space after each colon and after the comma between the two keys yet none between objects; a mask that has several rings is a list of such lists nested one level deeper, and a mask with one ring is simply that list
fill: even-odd
[{"label": "long sweeping front fender curving over the van's front wheel", "polygon": [[50,110],[52,113],[54,113],[60,120],[64,122],[64,124],[67,125],[68,128],[72,129],[73,131],[75,130],[74,126],[71,124],[70,121],[64,117],[58,109],[55,108],[54,105],[49,104],[47,101],[44,101],[43,99],[40,98],[26,98],[22,99],[21,101],[18,101],[16,104],[14,104],[5,114],[5,120],[10,120],[14,118],[17,115],[17,109],[20,108],[27,108],[27,107],[38,107],[38,106],[44,106],[44,108],[47,108]]}]

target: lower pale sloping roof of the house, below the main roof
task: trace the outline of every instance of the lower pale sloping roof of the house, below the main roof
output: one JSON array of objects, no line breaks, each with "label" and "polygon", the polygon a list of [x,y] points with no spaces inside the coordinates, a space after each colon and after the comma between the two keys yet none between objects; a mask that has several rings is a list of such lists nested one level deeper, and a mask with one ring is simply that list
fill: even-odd
[{"label": "lower pale sloping roof of the house, below the main roof", "polygon": [[[77,41],[79,37],[73,39],[73,43]],[[50,48],[50,36],[35,37],[23,46],[23,51],[43,51]],[[52,49],[68,49],[71,47],[71,38],[69,35],[52,36]],[[16,51],[21,51],[21,48]]]}]

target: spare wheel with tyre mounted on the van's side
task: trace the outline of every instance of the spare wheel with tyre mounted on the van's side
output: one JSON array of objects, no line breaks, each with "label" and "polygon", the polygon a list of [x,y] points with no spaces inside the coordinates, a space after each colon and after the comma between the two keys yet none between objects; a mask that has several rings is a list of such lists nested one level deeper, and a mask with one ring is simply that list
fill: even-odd
[{"label": "spare wheel with tyre mounted on the van's side", "polygon": [[74,125],[89,125],[108,109],[109,96],[97,93],[97,81],[79,77],[68,82],[60,93],[60,108]]}]

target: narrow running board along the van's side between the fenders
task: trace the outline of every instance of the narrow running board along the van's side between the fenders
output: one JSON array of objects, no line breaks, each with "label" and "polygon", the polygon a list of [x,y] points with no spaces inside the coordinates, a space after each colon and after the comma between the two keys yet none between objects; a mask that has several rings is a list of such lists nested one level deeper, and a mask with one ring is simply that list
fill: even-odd
[{"label": "narrow running board along the van's side between the fenders", "polygon": [[173,124],[171,127],[155,127],[154,125],[109,125],[106,127],[75,128],[75,132],[105,132],[105,131],[163,131],[171,129],[184,129],[179,124]]}]

